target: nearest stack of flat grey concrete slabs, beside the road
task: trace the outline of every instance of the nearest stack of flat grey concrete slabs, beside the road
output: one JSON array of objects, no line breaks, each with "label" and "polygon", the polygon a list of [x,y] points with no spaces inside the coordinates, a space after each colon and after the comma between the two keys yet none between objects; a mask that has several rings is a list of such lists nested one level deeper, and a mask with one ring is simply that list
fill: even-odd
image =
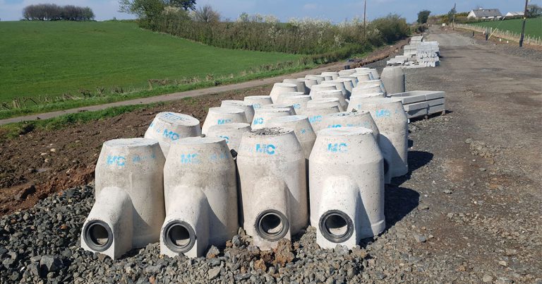
[{"label": "nearest stack of flat grey concrete slabs, beside the road", "polygon": [[429,114],[445,114],[445,92],[438,90],[412,90],[404,93],[388,94],[400,98],[406,117],[426,117]]}]

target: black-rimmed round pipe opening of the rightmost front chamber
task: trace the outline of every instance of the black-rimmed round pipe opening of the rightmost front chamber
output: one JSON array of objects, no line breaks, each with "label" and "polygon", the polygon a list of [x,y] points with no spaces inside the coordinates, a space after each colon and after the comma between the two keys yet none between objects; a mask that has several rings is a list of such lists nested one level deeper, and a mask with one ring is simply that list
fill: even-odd
[{"label": "black-rimmed round pipe opening of the rightmost front chamber", "polygon": [[342,211],[327,211],[319,223],[320,232],[330,242],[345,242],[354,234],[352,219]]}]

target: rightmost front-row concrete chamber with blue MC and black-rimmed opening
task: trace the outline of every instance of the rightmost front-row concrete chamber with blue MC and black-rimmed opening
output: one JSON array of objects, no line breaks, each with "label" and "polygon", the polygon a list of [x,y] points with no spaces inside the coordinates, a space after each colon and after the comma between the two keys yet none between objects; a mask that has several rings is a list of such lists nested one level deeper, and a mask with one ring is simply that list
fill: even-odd
[{"label": "rightmost front-row concrete chamber with blue MC and black-rimmed opening", "polygon": [[384,164],[371,130],[320,131],[309,169],[311,224],[321,247],[354,247],[385,229]]}]

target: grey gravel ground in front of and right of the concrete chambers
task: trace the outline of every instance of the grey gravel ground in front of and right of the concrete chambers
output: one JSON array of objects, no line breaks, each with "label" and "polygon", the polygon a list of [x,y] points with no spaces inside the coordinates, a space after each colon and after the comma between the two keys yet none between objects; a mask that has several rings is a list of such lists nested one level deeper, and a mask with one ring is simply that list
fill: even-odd
[{"label": "grey gravel ground in front of and right of the concrete chambers", "polygon": [[[240,230],[199,259],[159,256],[150,244],[112,261],[79,248],[94,202],[89,184],[0,218],[0,282],[542,283],[540,98],[504,100],[504,84],[484,91],[478,70],[465,63],[478,49],[470,46],[463,59],[452,56],[456,49],[443,48],[450,56],[437,69],[407,71],[409,90],[446,90],[450,112],[411,122],[410,172],[385,189],[387,228],[359,247],[319,249],[308,227],[292,243],[260,252]],[[490,76],[519,80],[503,72]],[[518,103],[530,117],[502,112]]]}]

